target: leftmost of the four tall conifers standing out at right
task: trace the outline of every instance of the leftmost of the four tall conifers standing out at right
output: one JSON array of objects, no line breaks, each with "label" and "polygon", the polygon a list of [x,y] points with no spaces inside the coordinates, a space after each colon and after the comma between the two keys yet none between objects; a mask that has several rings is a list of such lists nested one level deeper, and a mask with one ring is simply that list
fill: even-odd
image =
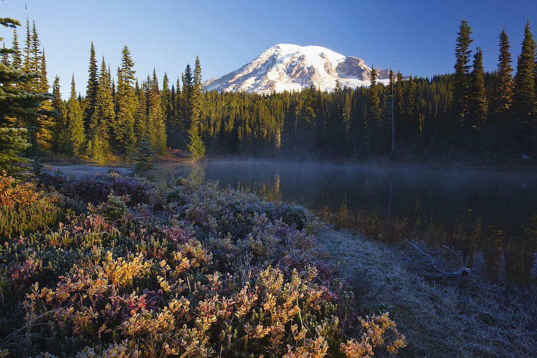
[{"label": "leftmost of the four tall conifers standing out at right", "polygon": [[453,114],[455,116],[455,127],[460,128],[466,125],[468,119],[468,98],[469,98],[469,56],[471,54],[470,38],[471,27],[466,19],[462,19],[457,33],[455,45],[455,75],[453,78]]}]

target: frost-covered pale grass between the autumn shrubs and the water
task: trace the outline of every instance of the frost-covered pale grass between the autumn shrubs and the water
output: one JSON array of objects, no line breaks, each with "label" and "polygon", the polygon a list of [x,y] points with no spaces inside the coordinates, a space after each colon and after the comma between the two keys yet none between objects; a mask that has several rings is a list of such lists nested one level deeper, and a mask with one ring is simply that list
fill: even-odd
[{"label": "frost-covered pale grass between the autumn shrubs and the water", "polygon": [[368,270],[381,288],[372,306],[394,314],[409,340],[401,356],[535,357],[537,289],[500,288],[479,278],[427,280],[410,248],[326,227],[318,245],[341,270]]}]

